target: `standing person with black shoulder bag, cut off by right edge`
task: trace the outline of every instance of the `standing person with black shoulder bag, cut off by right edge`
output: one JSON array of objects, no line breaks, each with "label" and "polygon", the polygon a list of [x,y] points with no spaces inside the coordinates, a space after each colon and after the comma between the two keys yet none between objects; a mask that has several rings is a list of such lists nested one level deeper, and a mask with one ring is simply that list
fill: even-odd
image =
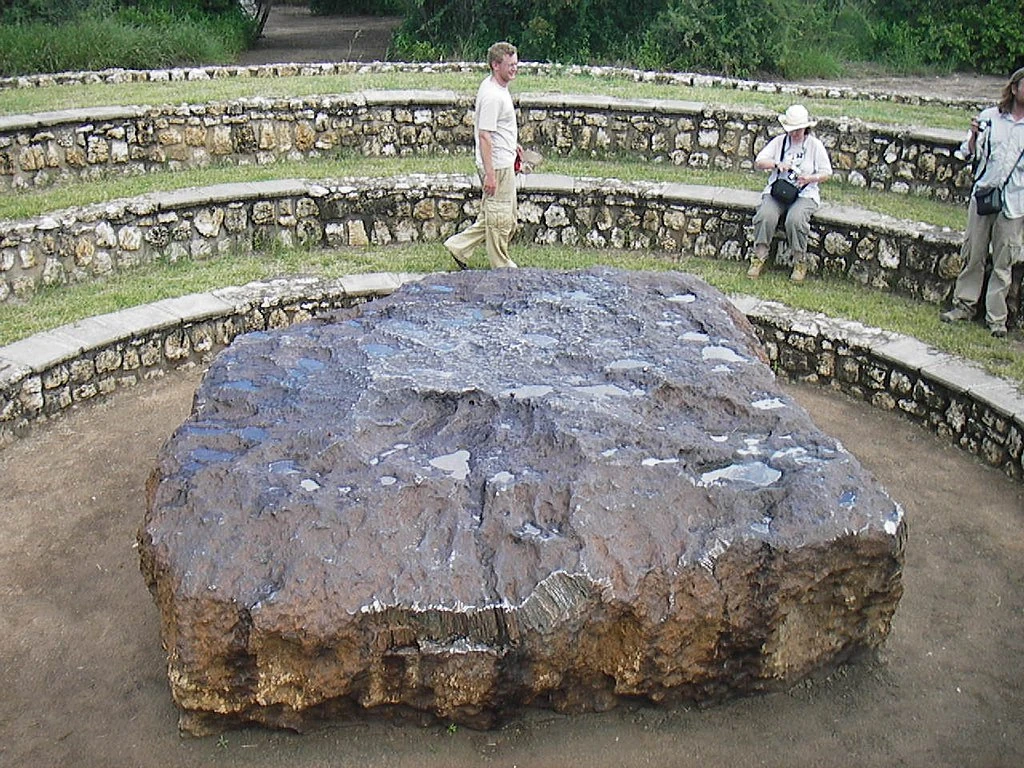
[{"label": "standing person with black shoulder bag, cut off by right edge", "polygon": [[[974,317],[992,259],[985,292],[985,323],[992,336],[1007,335],[1007,294],[1014,264],[1024,261],[1024,67],[1010,76],[999,103],[981,111],[961,153],[973,158],[975,182],[964,236],[964,268],[953,287],[953,306],[939,315],[943,323]],[[1001,190],[999,210],[978,210],[979,191]]]}]

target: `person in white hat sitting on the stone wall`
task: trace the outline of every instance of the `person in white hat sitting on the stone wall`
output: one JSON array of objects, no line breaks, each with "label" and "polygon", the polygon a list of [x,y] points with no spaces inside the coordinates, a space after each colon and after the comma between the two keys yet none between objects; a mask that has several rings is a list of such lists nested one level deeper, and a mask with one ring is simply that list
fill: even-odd
[{"label": "person in white hat sitting on the stone wall", "polygon": [[[812,135],[817,125],[811,120],[803,104],[793,104],[779,115],[784,133],[764,145],[754,159],[754,167],[770,171],[768,184],[761,195],[761,205],[754,214],[754,254],[746,276],[761,276],[768,260],[768,244],[779,220],[785,217],[785,240],[793,253],[793,272],[790,280],[803,283],[807,276],[807,241],[811,234],[811,216],[818,210],[821,196],[818,184],[831,178],[831,161],[821,140]],[[777,200],[773,186],[776,179],[796,185],[796,199],[791,202]]]}]

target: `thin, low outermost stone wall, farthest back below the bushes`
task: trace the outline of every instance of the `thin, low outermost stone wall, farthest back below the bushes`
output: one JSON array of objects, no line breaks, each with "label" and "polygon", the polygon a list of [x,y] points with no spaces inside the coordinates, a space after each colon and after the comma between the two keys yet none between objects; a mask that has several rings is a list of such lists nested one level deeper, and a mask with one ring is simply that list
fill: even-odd
[{"label": "thin, low outermost stone wall, farthest back below the bushes", "polygon": [[[720,88],[765,94],[805,96],[821,99],[860,99],[906,104],[937,104],[981,110],[987,102],[969,98],[925,96],[890,93],[873,88],[851,88],[836,85],[809,85],[801,83],[762,82],[740,78],[701,75],[688,72],[654,72],[622,67],[585,67],[523,61],[524,73],[536,72],[549,76],[584,75],[593,78],[626,78],[637,83],[675,85],[698,88]],[[333,77],[353,74],[383,73],[465,73],[486,71],[484,65],[469,61],[398,62],[398,61],[324,61],[312,63],[285,62],[258,66],[183,67],[168,70],[129,70],[112,68],[98,71],[61,72],[42,75],[24,75],[0,78],[2,88],[45,88],[55,85],[86,83],[159,83],[201,82],[229,78],[282,78],[282,77]]]}]

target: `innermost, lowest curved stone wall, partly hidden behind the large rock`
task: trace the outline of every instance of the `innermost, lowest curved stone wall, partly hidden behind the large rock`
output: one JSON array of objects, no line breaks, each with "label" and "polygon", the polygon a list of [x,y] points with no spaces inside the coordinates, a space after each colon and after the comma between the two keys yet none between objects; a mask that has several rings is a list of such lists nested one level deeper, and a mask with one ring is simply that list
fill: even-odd
[{"label": "innermost, lowest curved stone wall, partly hidden behind the large rock", "polygon": [[[67,409],[207,364],[236,336],[350,306],[429,275],[280,280],[133,307],[0,347],[0,446]],[[1024,393],[914,339],[734,299],[780,375],[897,411],[1024,481]]]}]

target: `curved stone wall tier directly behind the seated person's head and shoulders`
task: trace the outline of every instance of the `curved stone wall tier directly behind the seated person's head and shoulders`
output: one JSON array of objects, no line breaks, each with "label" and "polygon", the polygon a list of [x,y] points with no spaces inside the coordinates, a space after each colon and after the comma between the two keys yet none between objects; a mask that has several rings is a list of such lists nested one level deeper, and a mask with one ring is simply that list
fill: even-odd
[{"label": "curved stone wall tier directly behind the seated person's head and shoulders", "polygon": [[[765,110],[572,94],[516,98],[521,142],[550,156],[751,170],[780,130]],[[364,91],[0,117],[0,189],[339,152],[468,155],[472,109],[471,94],[453,91]],[[953,156],[963,132],[828,118],[815,130],[837,176],[856,186],[966,202],[970,168]]]}]

